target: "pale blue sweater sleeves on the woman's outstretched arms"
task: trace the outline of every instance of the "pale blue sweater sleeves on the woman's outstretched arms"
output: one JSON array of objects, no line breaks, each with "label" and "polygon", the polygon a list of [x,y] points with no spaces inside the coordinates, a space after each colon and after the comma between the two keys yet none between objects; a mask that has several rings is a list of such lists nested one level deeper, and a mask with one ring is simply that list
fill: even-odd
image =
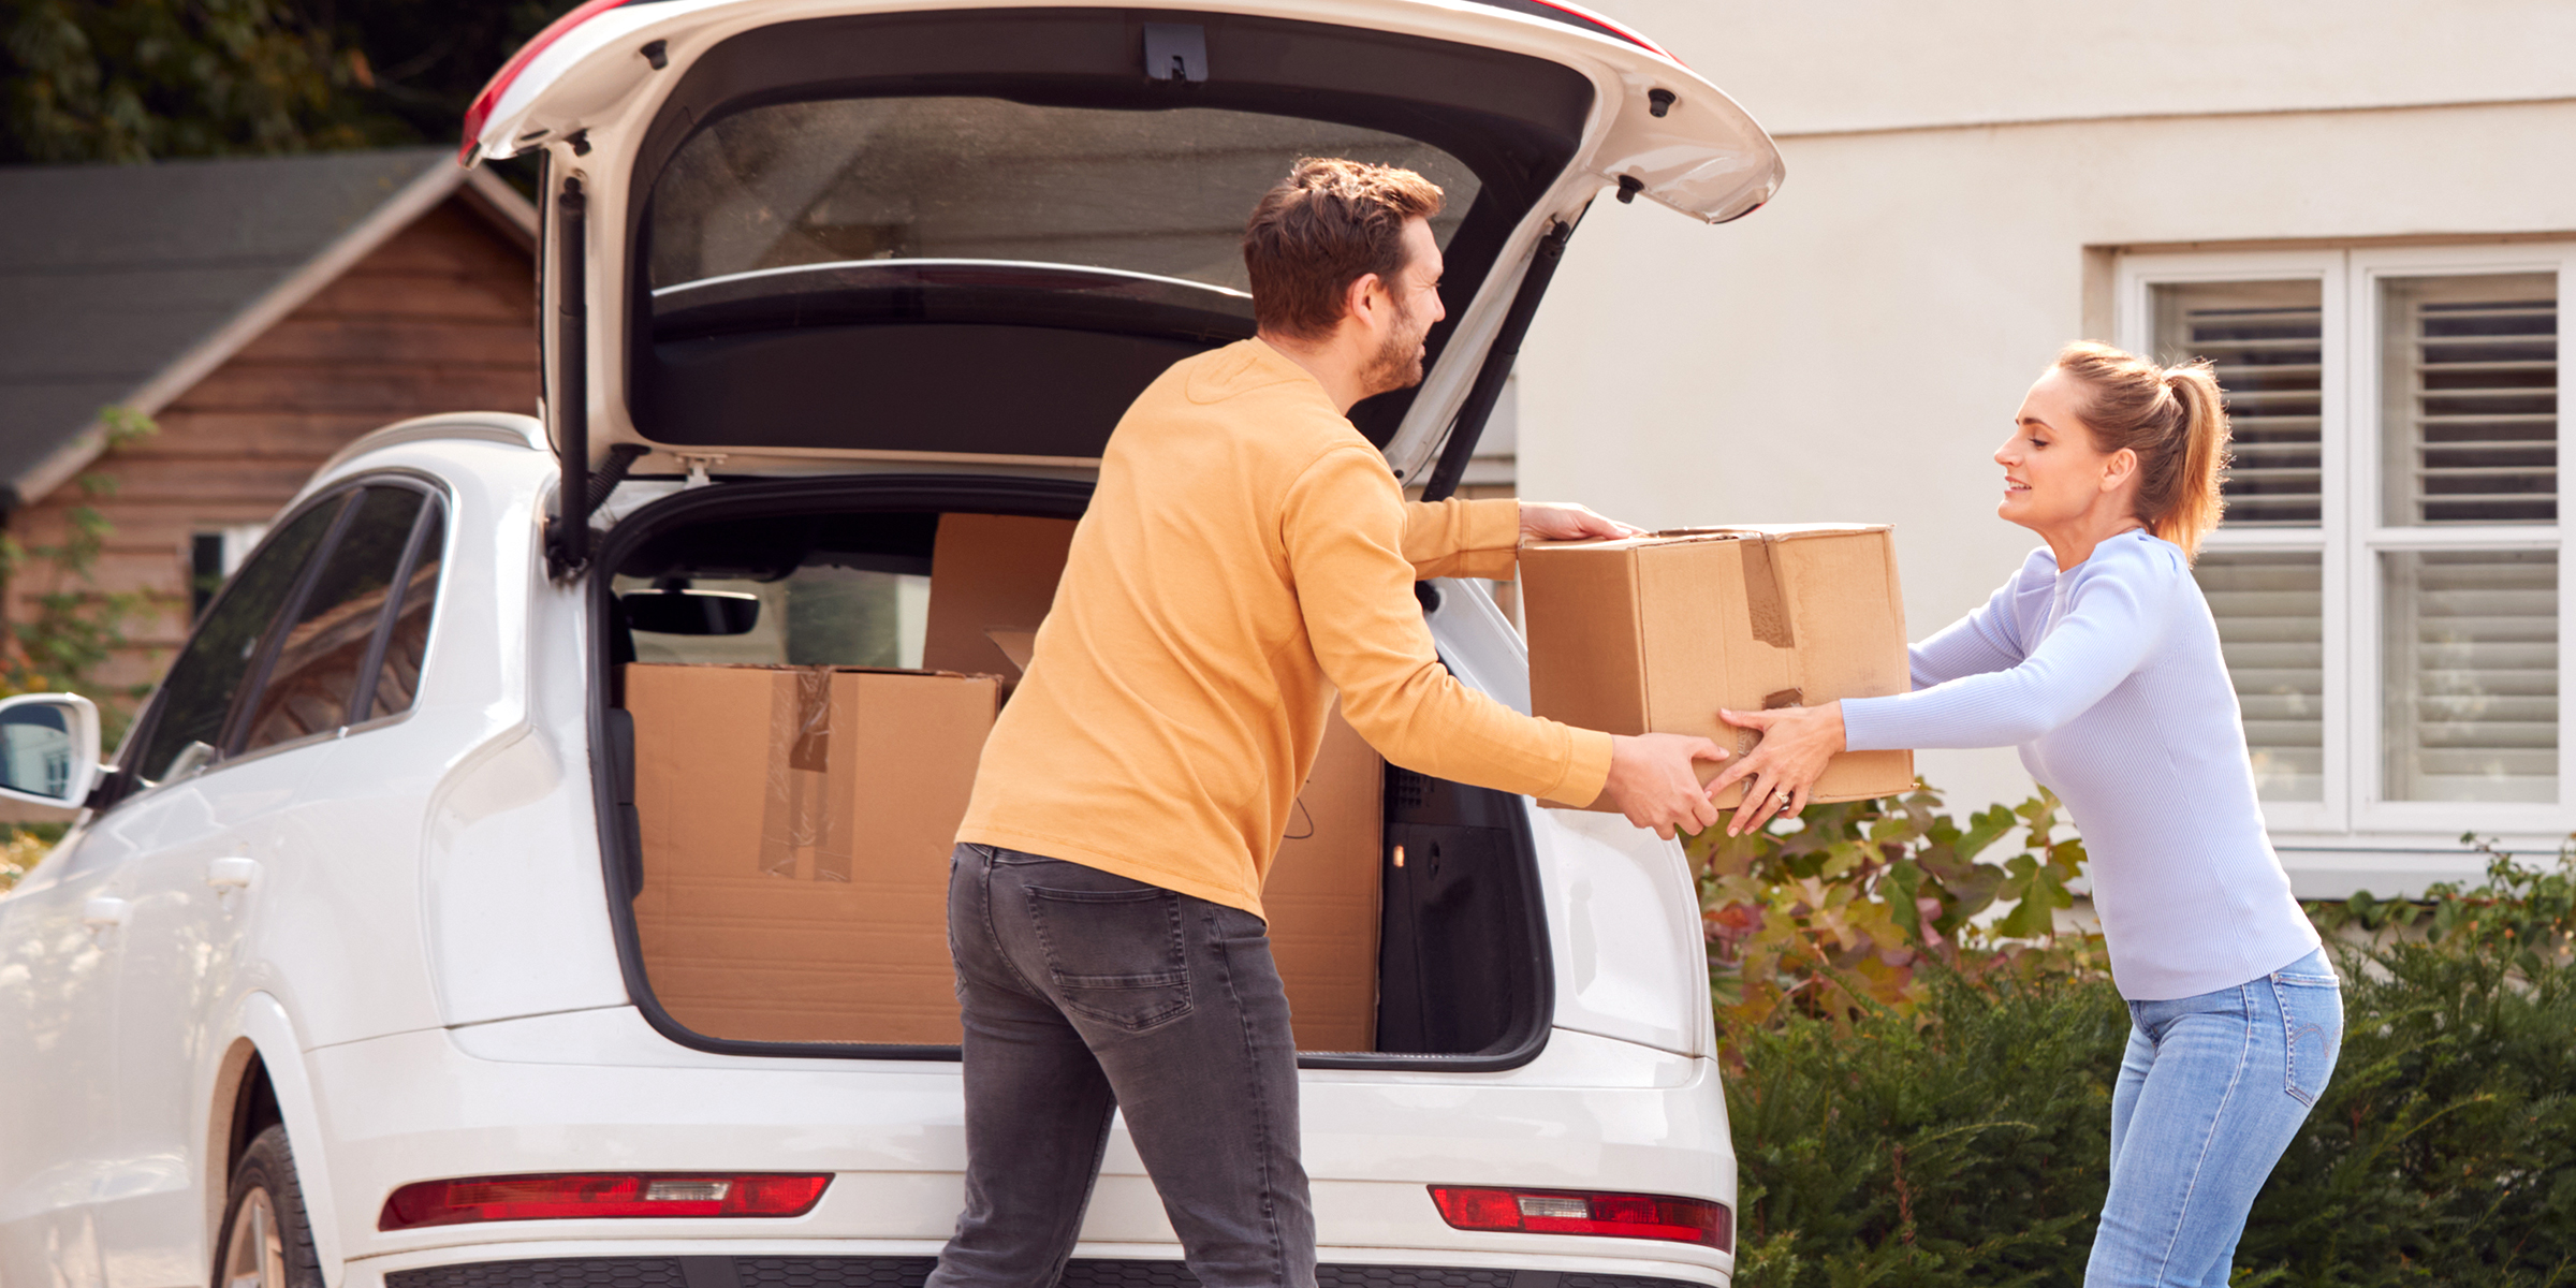
[{"label": "pale blue sweater sleeves on the woman's outstretched arms", "polygon": [[[2120,680],[2156,649],[2177,590],[2179,580],[2151,559],[2102,559],[2079,567],[2063,590],[2069,595],[2063,618],[2038,649],[2030,649],[2030,657],[1893,698],[1844,698],[1844,744],[1855,752],[2012,747],[2058,729],[2120,688]],[[2009,634],[1994,623],[1986,629],[1976,623],[1986,616],[2009,616],[2004,595],[1960,623],[1976,636],[1973,644],[1945,639],[1960,636],[1960,626],[1935,636],[1942,647],[1935,649],[1932,665],[1960,665],[2002,649]]]}]

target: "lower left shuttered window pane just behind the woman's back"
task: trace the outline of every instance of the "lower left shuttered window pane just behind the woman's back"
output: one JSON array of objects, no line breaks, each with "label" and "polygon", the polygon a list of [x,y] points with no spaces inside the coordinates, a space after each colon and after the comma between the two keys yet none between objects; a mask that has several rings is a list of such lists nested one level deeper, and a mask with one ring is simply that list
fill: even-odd
[{"label": "lower left shuttered window pane just behind the woman's back", "polygon": [[2208,551],[2192,569],[2236,680],[2254,788],[2264,801],[2326,799],[2326,618],[2316,554]]}]

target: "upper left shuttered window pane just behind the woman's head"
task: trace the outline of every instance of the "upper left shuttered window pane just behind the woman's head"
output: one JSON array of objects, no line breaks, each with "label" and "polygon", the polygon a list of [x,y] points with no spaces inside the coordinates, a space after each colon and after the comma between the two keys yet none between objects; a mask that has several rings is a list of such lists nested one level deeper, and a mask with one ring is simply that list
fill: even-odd
[{"label": "upper left shuttered window pane just behind the woman's head", "polygon": [[2156,355],[2208,358],[2236,428],[2231,526],[2316,526],[2324,415],[2324,283],[2195,281],[2156,286]]}]

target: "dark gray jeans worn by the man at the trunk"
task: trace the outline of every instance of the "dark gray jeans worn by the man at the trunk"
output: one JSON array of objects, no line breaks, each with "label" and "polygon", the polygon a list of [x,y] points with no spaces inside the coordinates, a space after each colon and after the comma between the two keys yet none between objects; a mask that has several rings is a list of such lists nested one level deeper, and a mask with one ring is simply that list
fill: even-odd
[{"label": "dark gray jeans worn by the man at the trunk", "polygon": [[958,845],[966,1211],[925,1288],[1051,1288],[1110,1113],[1206,1288],[1314,1288],[1296,1041],[1260,917],[1061,858]]}]

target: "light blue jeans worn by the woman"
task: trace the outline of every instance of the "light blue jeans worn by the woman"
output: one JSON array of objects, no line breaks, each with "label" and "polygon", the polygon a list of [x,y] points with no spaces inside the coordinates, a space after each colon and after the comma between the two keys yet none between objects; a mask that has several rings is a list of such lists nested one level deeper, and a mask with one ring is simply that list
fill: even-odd
[{"label": "light blue jeans worn by the woman", "polygon": [[2254,1195],[2334,1077],[2342,984],[2321,948],[2128,1018],[2084,1288],[2226,1288]]}]

